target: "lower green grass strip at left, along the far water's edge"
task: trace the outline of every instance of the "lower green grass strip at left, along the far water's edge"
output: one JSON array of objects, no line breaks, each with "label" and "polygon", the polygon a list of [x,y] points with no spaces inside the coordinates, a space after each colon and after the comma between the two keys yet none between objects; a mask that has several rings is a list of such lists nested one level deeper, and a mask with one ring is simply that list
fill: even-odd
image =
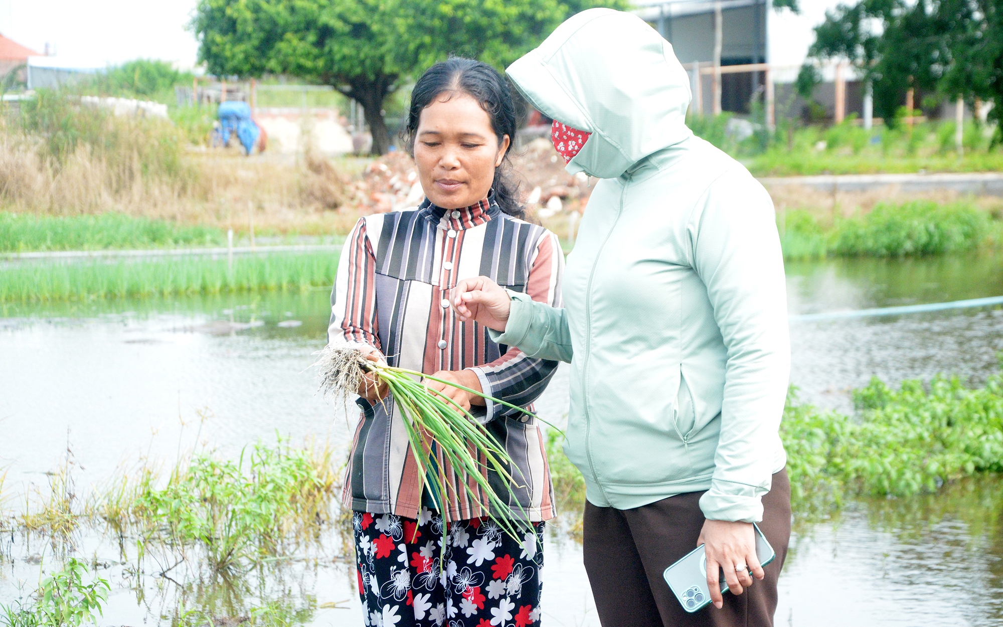
[{"label": "lower green grass strip at left, along the far water's edge", "polygon": [[205,257],[16,263],[0,268],[0,303],[303,291],[330,287],[337,269],[332,253],[242,255],[232,269],[226,258]]}]

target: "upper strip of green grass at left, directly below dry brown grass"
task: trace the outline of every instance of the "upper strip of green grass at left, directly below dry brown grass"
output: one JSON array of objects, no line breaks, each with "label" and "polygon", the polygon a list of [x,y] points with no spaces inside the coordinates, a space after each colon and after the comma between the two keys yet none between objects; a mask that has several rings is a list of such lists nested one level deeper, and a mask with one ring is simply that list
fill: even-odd
[{"label": "upper strip of green grass at left, directly below dry brown grass", "polygon": [[222,229],[124,214],[45,216],[0,212],[0,252],[221,246]]}]

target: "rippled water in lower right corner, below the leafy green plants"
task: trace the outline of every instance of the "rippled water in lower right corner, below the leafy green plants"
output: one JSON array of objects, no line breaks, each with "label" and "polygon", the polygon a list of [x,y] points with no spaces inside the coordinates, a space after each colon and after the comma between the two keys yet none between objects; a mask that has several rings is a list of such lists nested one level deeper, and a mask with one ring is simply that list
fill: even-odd
[{"label": "rippled water in lower right corner, below the leafy green plants", "polygon": [[777,624],[1003,624],[1003,481],[861,500],[802,529],[780,578]]}]

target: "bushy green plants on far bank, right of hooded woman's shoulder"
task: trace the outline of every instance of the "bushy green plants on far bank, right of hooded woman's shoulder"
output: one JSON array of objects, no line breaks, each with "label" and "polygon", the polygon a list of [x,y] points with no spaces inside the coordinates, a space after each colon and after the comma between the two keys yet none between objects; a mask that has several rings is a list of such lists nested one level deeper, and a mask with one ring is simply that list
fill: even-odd
[{"label": "bushy green plants on far bank, right of hooded woman's shoulder", "polygon": [[786,259],[907,257],[974,250],[998,239],[1001,224],[965,203],[883,203],[865,216],[823,225],[803,210],[777,220]]}]

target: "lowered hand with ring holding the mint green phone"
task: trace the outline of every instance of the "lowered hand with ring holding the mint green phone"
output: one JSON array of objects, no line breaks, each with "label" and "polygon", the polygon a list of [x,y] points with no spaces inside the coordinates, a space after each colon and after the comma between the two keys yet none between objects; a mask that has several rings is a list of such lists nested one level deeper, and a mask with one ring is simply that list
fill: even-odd
[{"label": "lowered hand with ring holding the mint green phone", "polygon": [[702,544],[707,553],[707,588],[717,609],[724,605],[718,569],[724,570],[724,581],[732,594],[741,594],[752,585],[749,571],[756,579],[765,576],[755,555],[755,530],[751,523],[705,521],[697,544]]}]

